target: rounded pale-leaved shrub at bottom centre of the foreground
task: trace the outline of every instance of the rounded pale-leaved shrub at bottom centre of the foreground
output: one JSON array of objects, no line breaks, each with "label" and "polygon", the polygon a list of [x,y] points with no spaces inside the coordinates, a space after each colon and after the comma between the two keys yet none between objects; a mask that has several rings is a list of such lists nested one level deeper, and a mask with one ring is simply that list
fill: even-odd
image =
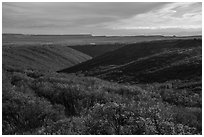
[{"label": "rounded pale-leaved shrub at bottom centre of the foreground", "polygon": [[86,134],[144,134],[144,121],[126,104],[96,104],[86,120]]}]

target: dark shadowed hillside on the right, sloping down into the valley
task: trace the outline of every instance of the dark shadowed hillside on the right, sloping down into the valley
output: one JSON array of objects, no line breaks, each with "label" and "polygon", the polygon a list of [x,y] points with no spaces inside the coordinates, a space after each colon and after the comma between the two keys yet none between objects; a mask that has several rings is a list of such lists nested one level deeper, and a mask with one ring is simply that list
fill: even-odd
[{"label": "dark shadowed hillside on the right, sloping down into the valley", "polygon": [[201,76],[202,40],[130,44],[60,72],[82,71],[117,82],[163,82]]}]

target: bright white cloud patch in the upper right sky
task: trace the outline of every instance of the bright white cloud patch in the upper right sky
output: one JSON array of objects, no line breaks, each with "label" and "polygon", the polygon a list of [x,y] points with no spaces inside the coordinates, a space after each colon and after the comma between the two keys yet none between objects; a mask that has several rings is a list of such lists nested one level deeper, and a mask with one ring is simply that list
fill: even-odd
[{"label": "bright white cloud patch in the upper right sky", "polygon": [[109,29],[201,29],[201,3],[170,3],[147,13],[103,24]]}]

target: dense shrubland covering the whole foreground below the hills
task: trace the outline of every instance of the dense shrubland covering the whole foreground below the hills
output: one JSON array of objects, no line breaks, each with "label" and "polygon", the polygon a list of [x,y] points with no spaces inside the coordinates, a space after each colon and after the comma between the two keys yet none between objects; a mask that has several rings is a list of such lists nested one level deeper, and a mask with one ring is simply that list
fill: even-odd
[{"label": "dense shrubland covering the whole foreground below the hills", "polygon": [[71,74],[3,70],[2,131],[201,134],[200,87],[189,81],[127,85]]}]

